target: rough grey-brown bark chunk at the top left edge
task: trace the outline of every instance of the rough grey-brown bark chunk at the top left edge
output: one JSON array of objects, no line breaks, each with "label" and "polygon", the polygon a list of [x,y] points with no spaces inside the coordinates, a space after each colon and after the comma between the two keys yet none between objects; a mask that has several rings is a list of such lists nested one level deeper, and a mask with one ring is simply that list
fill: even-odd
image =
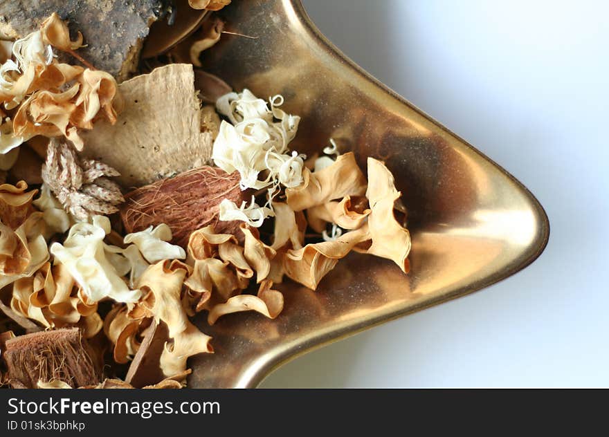
[{"label": "rough grey-brown bark chunk at the top left edge", "polygon": [[0,37],[21,38],[57,12],[80,30],[87,47],[78,53],[100,70],[124,80],[135,71],[149,27],[163,12],[163,0],[0,1]]}]

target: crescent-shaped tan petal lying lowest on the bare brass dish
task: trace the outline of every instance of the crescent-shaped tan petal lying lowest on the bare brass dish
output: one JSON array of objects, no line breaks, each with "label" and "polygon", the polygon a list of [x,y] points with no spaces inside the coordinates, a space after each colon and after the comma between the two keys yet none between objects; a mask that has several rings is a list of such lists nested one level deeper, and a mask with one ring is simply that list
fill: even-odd
[{"label": "crescent-shaped tan petal lying lowest on the bare brass dish", "polygon": [[271,290],[272,281],[262,281],[258,289],[257,296],[239,295],[228,299],[225,304],[214,306],[208,315],[208,323],[215,324],[217,319],[223,315],[230,313],[238,313],[239,311],[257,311],[258,313],[274,319],[283,310],[284,299],[281,292]]}]

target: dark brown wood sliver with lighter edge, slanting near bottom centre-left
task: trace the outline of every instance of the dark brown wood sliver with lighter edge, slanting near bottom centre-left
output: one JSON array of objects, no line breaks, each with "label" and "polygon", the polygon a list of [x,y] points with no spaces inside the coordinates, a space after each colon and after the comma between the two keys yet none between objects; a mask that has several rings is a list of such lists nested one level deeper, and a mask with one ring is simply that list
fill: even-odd
[{"label": "dark brown wood sliver with lighter edge, slanting near bottom centre-left", "polygon": [[165,322],[158,324],[153,322],[147,329],[144,340],[131,361],[125,382],[140,389],[164,380],[165,375],[161,370],[161,354],[167,340],[169,340],[169,331]]}]

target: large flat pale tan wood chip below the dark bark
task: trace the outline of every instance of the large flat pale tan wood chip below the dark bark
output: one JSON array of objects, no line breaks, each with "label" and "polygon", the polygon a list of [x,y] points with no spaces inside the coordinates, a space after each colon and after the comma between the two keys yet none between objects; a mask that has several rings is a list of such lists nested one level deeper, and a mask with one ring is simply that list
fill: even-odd
[{"label": "large flat pale tan wood chip below the dark bark", "polygon": [[100,120],[83,132],[84,156],[120,172],[138,187],[205,165],[217,131],[201,127],[201,106],[190,64],[170,64],[119,86],[125,109],[116,124]]}]

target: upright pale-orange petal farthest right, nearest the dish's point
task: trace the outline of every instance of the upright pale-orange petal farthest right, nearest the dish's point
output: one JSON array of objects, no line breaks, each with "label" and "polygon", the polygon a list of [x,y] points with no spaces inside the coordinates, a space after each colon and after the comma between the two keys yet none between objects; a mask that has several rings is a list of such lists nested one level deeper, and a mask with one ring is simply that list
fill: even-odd
[{"label": "upright pale-orange petal farthest right, nearest the dish's point", "polygon": [[367,248],[356,248],[360,252],[393,260],[399,268],[408,273],[408,253],[410,233],[402,227],[393,215],[394,203],[401,196],[394,185],[391,172],[383,162],[368,158],[368,183],[366,197],[370,202],[368,227],[372,243]]}]

